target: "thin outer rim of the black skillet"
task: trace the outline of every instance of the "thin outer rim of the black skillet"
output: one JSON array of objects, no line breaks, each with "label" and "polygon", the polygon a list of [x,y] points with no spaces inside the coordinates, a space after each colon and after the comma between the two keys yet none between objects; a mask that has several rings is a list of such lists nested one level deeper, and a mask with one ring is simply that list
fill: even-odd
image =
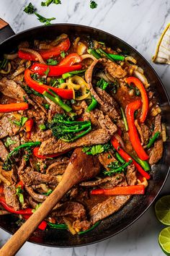
[{"label": "thin outer rim of the black skillet", "polygon": [[[60,26],[60,25],[61,25],[61,26],[68,26],[68,27],[85,27],[85,28],[87,28],[87,29],[89,29],[89,30],[97,30],[97,31],[99,31],[99,33],[104,33],[104,34],[106,34],[106,35],[109,35],[110,37],[116,38],[116,39],[119,40],[121,43],[123,43],[123,44],[125,44],[126,46],[128,46],[129,48],[131,48],[133,51],[135,51],[135,53],[136,53],[138,56],[140,56],[141,59],[143,59],[143,60],[146,62],[146,65],[149,66],[149,67],[152,69],[153,73],[154,73],[155,76],[157,77],[158,81],[159,81],[160,84],[161,84],[161,87],[162,87],[163,90],[164,90],[164,93],[165,93],[165,95],[166,95],[167,101],[168,101],[169,106],[170,106],[169,95],[168,95],[168,93],[166,92],[166,88],[164,88],[164,85],[163,85],[163,83],[161,82],[160,77],[158,77],[158,74],[157,74],[156,71],[153,69],[153,67],[151,66],[151,64],[149,64],[149,62],[148,62],[135,48],[133,48],[133,46],[130,46],[130,45],[129,45],[128,43],[126,43],[124,40],[122,40],[122,39],[120,39],[120,38],[117,38],[117,36],[112,35],[112,34],[110,34],[110,33],[107,33],[107,32],[105,32],[104,30],[99,30],[98,28],[89,27],[89,26],[86,26],[86,25],[71,24],[71,23],[55,23],[55,24],[53,24],[53,25],[50,25],[50,27],[55,27],[55,26]],[[44,26],[42,25],[42,26],[37,26],[37,27],[29,28],[29,29],[24,30],[24,31],[22,31],[22,32],[20,32],[20,33],[17,33],[16,35],[12,35],[10,38],[7,38],[7,39],[4,40],[2,43],[0,43],[0,46],[3,45],[3,44],[5,44],[6,41],[9,41],[9,40],[11,40],[12,38],[17,37],[17,35],[22,35],[23,33],[28,33],[29,31],[32,31],[32,30],[35,30],[35,29],[38,29],[38,28],[42,28],[42,27],[44,27]],[[106,237],[104,237],[104,238],[102,238],[102,239],[98,239],[98,240],[96,240],[96,241],[94,241],[94,242],[86,242],[86,243],[84,243],[84,244],[76,244],[76,245],[65,245],[65,246],[62,245],[62,246],[61,246],[61,245],[53,245],[53,244],[42,244],[42,243],[34,242],[34,241],[27,241],[27,242],[30,242],[30,243],[32,243],[32,244],[39,244],[39,245],[46,246],[46,247],[71,248],[71,247],[84,247],[84,246],[89,245],[89,244],[96,244],[97,242],[102,242],[102,241],[104,241],[104,240],[106,240],[106,239],[109,239],[109,238],[111,238],[112,236],[115,236],[115,235],[119,234],[121,231],[124,231],[125,229],[128,229],[128,227],[130,227],[133,223],[135,223],[135,221],[137,221],[138,218],[140,218],[141,216],[143,216],[144,213],[146,213],[146,210],[148,210],[148,208],[151,207],[151,205],[153,204],[153,202],[156,200],[156,197],[158,197],[158,194],[161,192],[161,189],[164,187],[164,184],[165,184],[165,182],[166,182],[166,179],[167,179],[168,176],[169,176],[169,171],[170,171],[170,166],[169,166],[169,169],[168,169],[168,171],[167,171],[167,174],[166,174],[166,177],[165,177],[165,179],[164,179],[163,184],[161,185],[160,189],[158,190],[156,196],[153,198],[152,202],[148,205],[148,207],[147,207],[145,210],[143,210],[143,213],[140,213],[140,215],[139,215],[138,217],[136,217],[131,223],[129,223],[129,224],[128,224],[127,226],[125,226],[124,228],[120,229],[120,231],[117,231],[115,234],[111,234],[111,235],[106,236]],[[1,229],[3,229],[4,231],[6,231],[6,232],[9,233],[9,234],[12,234],[10,231],[7,231],[6,229],[4,229],[4,228],[2,228],[2,227],[1,227]]]}]

